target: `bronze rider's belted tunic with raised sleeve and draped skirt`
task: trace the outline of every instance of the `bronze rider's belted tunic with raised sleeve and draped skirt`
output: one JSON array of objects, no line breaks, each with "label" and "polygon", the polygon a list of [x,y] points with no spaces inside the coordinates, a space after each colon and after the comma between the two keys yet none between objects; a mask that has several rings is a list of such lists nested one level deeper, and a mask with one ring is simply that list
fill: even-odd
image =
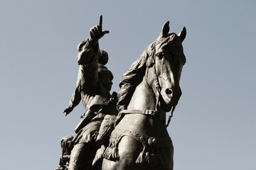
[{"label": "bronze rider's belted tunic with raised sleeve and draped skirt", "polygon": [[[98,63],[100,54],[99,45],[92,45],[89,40],[80,42],[78,45],[78,81],[70,99],[70,107],[75,107],[82,101],[89,123],[82,128],[73,138],[73,144],[95,142],[105,113],[102,108],[109,106],[110,91],[102,85],[99,79],[99,72],[110,72],[107,67]],[[110,72],[110,74],[112,74]],[[104,82],[103,82],[104,83]],[[91,119],[91,120],[90,120]]]}]

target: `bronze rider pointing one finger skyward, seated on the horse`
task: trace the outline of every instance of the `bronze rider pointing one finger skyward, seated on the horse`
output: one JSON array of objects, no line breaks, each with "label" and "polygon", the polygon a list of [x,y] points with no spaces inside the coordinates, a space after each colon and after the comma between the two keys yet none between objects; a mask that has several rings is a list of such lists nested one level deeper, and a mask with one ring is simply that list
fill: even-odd
[{"label": "bronze rider pointing one finger skyward, seated on the horse", "polygon": [[100,50],[98,44],[98,40],[107,33],[108,30],[102,31],[102,16],[100,16],[100,24],[90,29],[90,38],[78,45],[80,69],[77,86],[68,108],[63,113],[68,115],[80,101],[85,106],[86,112],[75,129],[77,134],[65,140],[73,147],[68,164],[69,170],[92,169],[92,160],[99,148],[98,145],[102,145],[107,133],[104,130],[99,132],[101,124],[104,124],[102,121],[107,118],[109,122],[110,117],[106,116],[107,114],[114,116],[117,114],[116,96],[114,96],[116,93],[110,94],[113,75],[105,67],[108,55],[107,52]]}]

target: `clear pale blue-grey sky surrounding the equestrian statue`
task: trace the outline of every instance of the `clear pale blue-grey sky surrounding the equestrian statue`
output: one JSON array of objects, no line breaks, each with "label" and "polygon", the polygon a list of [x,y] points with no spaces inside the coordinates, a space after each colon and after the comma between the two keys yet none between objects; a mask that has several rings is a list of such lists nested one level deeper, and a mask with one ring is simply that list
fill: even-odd
[{"label": "clear pale blue-grey sky surrounding the equestrian statue", "polygon": [[55,169],[82,104],[63,110],[76,47],[103,16],[100,48],[119,79],[170,21],[187,28],[183,96],[169,125],[174,169],[256,169],[256,1],[0,0],[0,169]]}]

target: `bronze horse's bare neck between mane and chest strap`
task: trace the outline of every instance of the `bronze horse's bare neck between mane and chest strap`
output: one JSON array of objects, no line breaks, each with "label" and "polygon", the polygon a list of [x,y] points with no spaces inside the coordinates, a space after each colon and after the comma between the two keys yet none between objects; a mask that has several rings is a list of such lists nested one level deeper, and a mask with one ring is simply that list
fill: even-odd
[{"label": "bronze horse's bare neck between mane and chest strap", "polygon": [[153,89],[146,83],[146,79],[137,86],[127,106],[128,110],[155,110],[156,95]]}]

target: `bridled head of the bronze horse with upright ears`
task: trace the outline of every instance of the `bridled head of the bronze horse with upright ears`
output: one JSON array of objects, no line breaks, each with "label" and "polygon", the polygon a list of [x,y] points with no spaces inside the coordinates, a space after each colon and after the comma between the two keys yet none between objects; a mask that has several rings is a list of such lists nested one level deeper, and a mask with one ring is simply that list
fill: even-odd
[{"label": "bridled head of the bronze horse with upright ears", "polygon": [[161,34],[151,45],[147,62],[146,81],[154,90],[160,107],[171,111],[181,97],[179,84],[186,57],[183,54],[182,42],[186,38],[186,28],[181,33],[169,33],[169,22],[162,28]]}]

